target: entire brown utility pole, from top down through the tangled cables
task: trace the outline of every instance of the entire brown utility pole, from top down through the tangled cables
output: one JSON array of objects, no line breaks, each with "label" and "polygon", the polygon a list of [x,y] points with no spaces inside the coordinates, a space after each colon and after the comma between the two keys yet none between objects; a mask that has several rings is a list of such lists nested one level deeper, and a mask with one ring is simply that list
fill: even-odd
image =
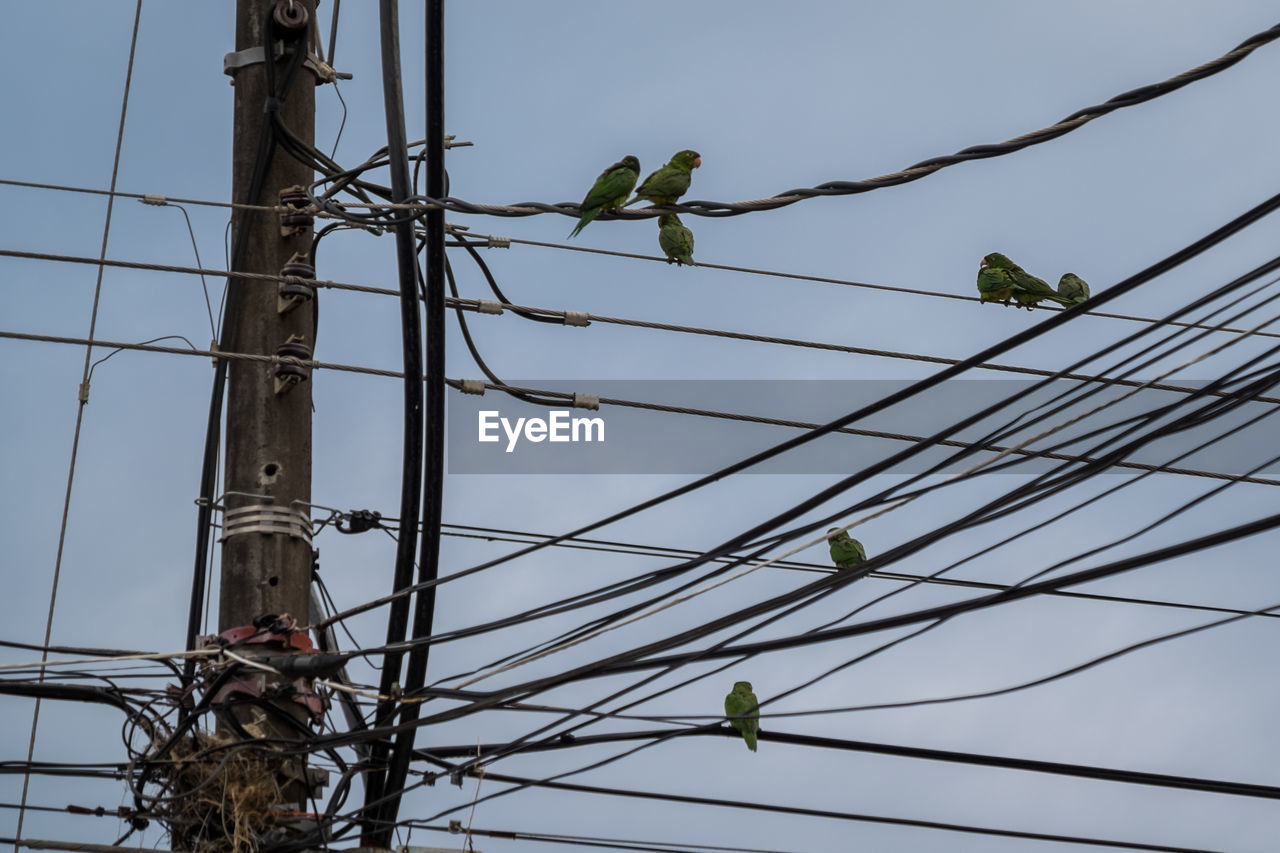
[{"label": "entire brown utility pole, from top down through the tangled cables", "polygon": [[[312,216],[300,190],[314,178],[310,165],[282,147],[279,124],[297,141],[312,145],[317,76],[308,45],[316,32],[314,17],[315,0],[236,4],[236,50],[224,60],[234,86],[232,196],[239,204],[294,210],[236,209],[232,270],[293,278],[273,283],[232,277],[219,345],[228,352],[312,357],[315,287],[307,280],[315,278]],[[312,651],[305,631],[312,567],[310,369],[292,362],[228,361],[219,642],[242,658],[271,658],[289,674],[242,666],[221,679],[206,702],[214,707],[227,702],[229,713],[219,719],[216,735],[204,736],[216,743],[300,740],[321,708],[310,679],[298,678],[300,670],[280,661]],[[314,774],[305,758],[271,745],[252,754],[271,792],[252,816],[255,833],[264,824],[269,831],[288,833],[289,821],[310,811]],[[233,804],[232,813],[220,813],[221,826],[244,825],[248,817],[238,811],[243,809]],[[186,838],[175,834],[175,847],[220,849],[219,833],[224,831],[219,821],[205,820]],[[233,847],[241,849],[244,840],[237,830]]]}]

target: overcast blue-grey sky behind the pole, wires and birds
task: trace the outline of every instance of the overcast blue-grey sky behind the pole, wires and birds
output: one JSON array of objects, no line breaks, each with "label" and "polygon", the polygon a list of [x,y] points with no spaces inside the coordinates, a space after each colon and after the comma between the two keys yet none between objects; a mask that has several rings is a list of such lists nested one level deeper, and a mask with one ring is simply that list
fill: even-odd
[{"label": "overcast blue-grey sky behind the pole, wires and birds", "polygon": [[[406,117],[410,138],[420,138],[421,10],[412,3],[402,6]],[[0,95],[6,119],[0,134],[0,179],[108,187],[134,4],[5,3],[3,9],[6,26],[0,31],[0,51],[13,72]],[[332,3],[321,4],[326,49],[332,12]],[[753,200],[827,181],[869,178],[1046,127],[1082,106],[1194,68],[1275,23],[1272,4],[1251,0],[800,1],[785,6],[755,0],[456,1],[445,12],[445,117],[448,132],[474,145],[448,155],[451,195],[494,205],[576,202],[595,175],[621,156],[636,155],[648,173],[686,147],[703,158],[686,199]],[[221,58],[233,49],[233,27],[230,3],[142,4],[118,190],[207,201],[230,199],[232,88],[221,72]],[[316,92],[316,143],[326,152],[335,150],[343,165],[364,161],[385,143],[379,56],[376,4],[344,4],[333,60],[339,70],[353,74],[340,83],[346,108],[333,86]],[[1280,118],[1270,106],[1277,73],[1280,45],[1266,45],[1221,74],[1016,154],[964,163],[909,184],[856,196],[812,199],[732,218],[685,216],[696,237],[694,256],[699,263],[913,292],[677,268],[518,242],[509,248],[483,250],[483,257],[507,296],[521,305],[906,356],[965,359],[1051,316],[1050,311],[980,305],[974,275],[987,252],[1005,252],[1051,282],[1073,270],[1098,295],[1270,197],[1280,183],[1280,164],[1274,156]],[[106,215],[104,196],[0,183],[0,248],[97,257]],[[202,265],[224,269],[227,210],[186,205],[186,211]],[[572,228],[567,216],[449,213],[447,219],[474,234],[646,256],[659,252],[657,229],[648,219],[593,223],[573,241],[566,240]],[[1280,220],[1263,219],[1103,310],[1165,316],[1270,260]],[[342,232],[326,238],[321,250],[320,278],[396,287],[389,236]],[[183,215],[173,206],[147,206],[133,199],[118,199],[114,205],[106,256],[196,265]],[[466,255],[451,255],[451,260],[463,297],[493,298]],[[205,348],[212,337],[198,277],[108,268],[95,297],[96,278],[92,265],[0,257],[0,332],[83,338],[92,321],[96,338],[104,341],[182,336],[193,348]],[[223,282],[209,277],[204,284],[216,314]],[[1262,309],[1239,324],[1248,328],[1268,318]],[[320,319],[319,360],[399,368],[396,300],[324,291]],[[535,324],[509,311],[500,316],[468,314],[467,320],[485,361],[511,384],[626,397],[616,391],[622,387],[617,383],[644,380],[630,387],[632,398],[672,405],[692,405],[689,401],[694,400],[701,409],[791,420],[820,423],[855,410],[863,402],[859,394],[883,393],[884,386],[870,380],[914,380],[941,369],[911,357],[598,321],[586,328]],[[996,360],[1059,370],[1140,328],[1139,321],[1085,314]],[[452,315],[447,334],[447,375],[480,378]],[[1153,378],[1225,339],[1215,333],[1164,357],[1139,377]],[[180,339],[164,343],[187,346]],[[1213,379],[1268,346],[1265,338],[1249,337],[1169,382]],[[95,348],[92,360],[106,353]],[[63,534],[84,357],[82,346],[0,337],[0,483],[6,485],[0,494],[0,639],[41,643],[54,569],[60,565],[54,644],[179,651],[212,370],[204,357],[131,351],[95,366]],[[1094,361],[1082,371],[1100,373],[1108,364]],[[984,380],[983,387],[996,380],[1010,388],[1025,386],[1006,373],[970,371],[966,377]],[[728,380],[806,384],[794,398],[753,398],[754,387],[744,393],[741,384]],[[927,428],[941,425],[947,415],[959,419],[969,414],[966,406],[980,396],[963,384],[969,380],[948,382],[947,393],[922,397],[916,414],[900,410],[896,416],[886,415],[883,423],[859,425],[928,434]],[[312,392],[314,502],[394,516],[401,482],[398,380],[317,370]],[[448,400],[451,406],[475,405],[452,391]],[[492,391],[481,401],[511,418],[538,414]],[[639,425],[639,433],[658,447],[659,457],[677,461],[667,469],[644,461],[620,462],[618,470],[596,474],[452,471],[444,484],[444,521],[558,534],[691,482],[705,470],[694,467],[699,452],[682,443],[689,435],[704,434],[704,423],[609,406],[602,406],[600,415],[607,429],[611,423],[620,432]],[[1201,437],[1220,428],[1210,424]],[[744,452],[796,434],[794,428],[726,425],[726,435],[731,429],[744,430],[733,433],[733,447],[741,444],[748,448]],[[451,435],[451,441],[465,438]],[[860,453],[884,455],[902,446],[882,443],[868,451],[867,444],[854,443],[865,441],[870,439],[840,437],[840,442],[824,444],[829,459],[826,473],[731,476],[591,535],[710,548],[852,473],[863,464],[855,462],[863,459]],[[1229,461],[1248,462],[1254,453],[1267,452],[1266,442],[1249,448]],[[654,459],[644,453],[655,452],[639,444],[608,450],[636,453],[641,460]],[[824,512],[804,517],[836,512],[905,479],[904,473],[877,476],[827,505]],[[1204,535],[1267,515],[1274,505],[1274,485],[1234,484],[1174,521],[1116,544],[1176,506],[1222,485],[1221,480],[1161,473],[1051,520],[1129,480],[1134,480],[1133,474],[1093,478],[1042,505],[961,530],[882,567],[928,574],[1027,532],[954,573],[1009,584],[1093,548],[1106,547],[1068,570]],[[942,479],[928,482],[941,484]],[[874,557],[1027,482],[1023,474],[998,474],[948,484],[865,521],[854,535]],[[849,515],[841,523],[856,517]],[[1252,611],[1280,602],[1275,546],[1276,534],[1262,533],[1075,589]],[[379,532],[342,537],[330,526],[316,537],[316,547],[321,576],[340,607],[389,592],[396,548],[390,537]],[[442,575],[515,548],[509,542],[445,537]],[[824,564],[824,551],[814,544],[796,558]],[[443,585],[436,626],[444,631],[499,619],[531,603],[671,562],[548,548]],[[796,589],[813,578],[762,569],[582,646],[494,675],[481,686],[516,684],[595,661]],[[876,578],[859,580],[748,639],[810,631],[899,587]],[[876,605],[865,617],[972,594],[952,587],[913,588]],[[604,612],[607,608],[588,610],[442,644],[433,651],[428,680],[453,684],[448,676]],[[1153,646],[1007,695],[881,711],[768,716],[1007,686],[1217,617],[1221,613],[1061,597],[987,608],[767,706],[762,727],[1280,785],[1274,761],[1280,688],[1267,651],[1280,625],[1263,617]],[[362,646],[375,646],[383,640],[384,620],[385,611],[375,610],[348,620],[348,628]],[[726,635],[713,634],[691,648]],[[716,715],[735,680],[750,680],[764,701],[899,637],[886,631],[760,656],[646,702],[639,712]],[[348,643],[346,635],[342,642]],[[3,649],[0,662],[23,662],[32,656],[31,651]],[[691,665],[636,697],[709,669],[707,663]],[[375,671],[362,666],[353,666],[352,675],[364,683],[378,680]],[[636,680],[630,675],[589,679],[550,690],[538,701],[584,706]],[[154,685],[163,683],[157,676]],[[26,760],[31,712],[31,701],[0,697],[6,721],[0,761]],[[547,721],[530,713],[486,712],[424,729],[417,743],[502,742]],[[119,724],[113,710],[46,702],[35,760],[120,761]],[[608,722],[586,733],[636,725]],[[627,748],[613,744],[516,756],[489,770],[544,777]],[[566,781],[1213,850],[1268,850],[1280,831],[1280,818],[1265,799],[833,752],[767,738],[756,753],[723,738],[677,739]],[[401,816],[425,820],[461,808],[433,825],[453,817],[494,830],[730,849],[1096,849],[554,790],[483,799],[500,789],[495,783],[481,783],[481,802],[468,816],[477,795],[475,780],[467,780],[461,790],[445,783],[421,788],[406,797]],[[0,775],[0,803],[17,803],[20,794],[20,775]],[[114,809],[132,799],[118,781],[36,776],[28,802]],[[0,807],[0,836],[13,835],[15,816],[15,809]],[[56,812],[31,812],[23,826],[29,838],[99,843],[110,843],[122,831],[114,818]],[[401,840],[406,840],[403,835]],[[461,848],[457,836],[424,830],[407,840]],[[157,827],[128,843],[168,848]],[[559,845],[480,838],[476,848],[502,853]]]}]

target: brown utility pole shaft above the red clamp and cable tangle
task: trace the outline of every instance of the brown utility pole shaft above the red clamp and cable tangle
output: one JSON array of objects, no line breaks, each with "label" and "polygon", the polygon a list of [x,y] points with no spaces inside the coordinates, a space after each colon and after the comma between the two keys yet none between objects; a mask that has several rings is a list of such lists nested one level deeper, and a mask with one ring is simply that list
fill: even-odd
[{"label": "brown utility pole shaft above the red clamp and cable tangle", "polygon": [[[312,3],[302,0],[238,0],[236,50],[260,50],[262,28],[280,9],[302,13],[302,31],[294,41],[276,38],[285,54],[275,60],[276,86],[285,77],[289,54],[307,47],[306,17]],[[284,13],[288,14],[287,12]],[[252,60],[252,55],[250,55]],[[268,92],[261,63],[236,70],[236,126],[232,195],[237,201],[274,206],[291,187],[310,183],[311,169],[278,147],[250,199],[260,145],[271,117],[264,104]],[[280,119],[296,136],[315,140],[315,77],[303,69],[293,77],[279,106]],[[264,124],[268,126],[264,128]],[[282,225],[278,213],[242,210],[233,242],[243,241],[243,261],[236,272],[280,275],[285,265],[310,264],[311,227]],[[307,216],[300,216],[307,219]],[[288,236],[282,232],[289,231]],[[312,273],[314,277],[314,273]],[[311,300],[315,298],[314,289]],[[259,355],[310,353],[315,343],[312,305],[298,304],[287,313],[280,288],[261,279],[233,278],[227,300],[228,348]],[[282,352],[282,347],[288,346]],[[311,357],[306,355],[305,357]],[[251,625],[264,613],[288,613],[302,625],[307,620],[311,588],[311,383],[278,365],[230,361],[227,382],[227,514],[223,530],[221,585],[218,608],[220,631]],[[303,524],[306,537],[293,524]]]}]

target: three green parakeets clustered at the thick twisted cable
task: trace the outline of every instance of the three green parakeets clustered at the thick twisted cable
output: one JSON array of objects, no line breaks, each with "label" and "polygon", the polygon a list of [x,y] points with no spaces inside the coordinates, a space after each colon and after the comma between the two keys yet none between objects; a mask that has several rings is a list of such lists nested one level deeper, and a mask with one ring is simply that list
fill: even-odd
[{"label": "three green parakeets clustered at the thick twisted cable", "polygon": [[[703,164],[698,151],[677,151],[675,156],[640,184],[635,196],[627,200],[631,190],[640,179],[640,160],[627,155],[600,173],[582,199],[582,215],[577,227],[570,233],[576,237],[588,223],[605,210],[625,207],[640,199],[655,205],[675,204],[689,190],[692,172]],[[694,232],[689,231],[676,214],[663,214],[658,218],[658,246],[667,256],[667,263],[694,263]]]}]

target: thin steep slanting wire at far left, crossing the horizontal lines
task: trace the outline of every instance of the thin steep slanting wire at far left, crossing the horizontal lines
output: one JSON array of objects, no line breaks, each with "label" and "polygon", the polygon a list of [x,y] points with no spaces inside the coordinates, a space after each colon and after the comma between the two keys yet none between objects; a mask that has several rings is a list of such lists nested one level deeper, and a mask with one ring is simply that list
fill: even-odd
[{"label": "thin steep slanting wire at far left, crossing the horizontal lines", "polygon": [[[120,122],[115,132],[115,156],[111,160],[111,190],[115,190],[115,181],[120,173],[120,150],[124,145],[124,117],[129,108],[129,87],[133,83],[133,58],[137,54],[138,46],[138,22],[142,19],[142,0],[137,0],[137,5],[133,8],[133,35],[129,37],[129,63],[124,72],[124,95],[120,100]],[[106,202],[106,219],[102,223],[102,248],[99,252],[100,259],[106,257],[106,242],[111,233],[111,209],[114,206],[114,199],[108,199]],[[102,295],[102,273],[104,266],[97,268],[97,282],[93,286],[93,309],[90,313],[88,320],[88,339],[92,341],[93,330],[97,327],[97,306],[99,300]],[[45,646],[49,646],[49,638],[52,635],[54,630],[54,607],[58,602],[58,581],[61,578],[63,570],[63,549],[67,544],[67,519],[70,515],[72,507],[72,483],[76,479],[76,456],[79,451],[79,435],[81,425],[84,423],[84,405],[88,402],[88,371],[90,360],[93,356],[92,345],[84,347],[84,366],[81,371],[81,391],[79,391],[79,405],[76,407],[76,430],[72,435],[72,452],[70,460],[67,466],[67,491],[63,496],[63,516],[58,529],[58,553],[54,557],[54,579],[49,589],[49,615],[45,617]],[[41,652],[42,657],[47,660],[49,652]],[[45,680],[45,671],[40,671],[40,681]],[[36,697],[35,707],[31,712],[31,738],[27,742],[27,762],[29,765],[32,756],[36,753],[36,731],[40,727],[40,697]],[[27,816],[26,804],[27,794],[31,789],[31,772],[24,772],[22,775],[22,799],[18,808],[18,827],[14,833],[17,839],[22,838],[22,824]],[[14,852],[18,850],[18,841],[14,841]]]}]

